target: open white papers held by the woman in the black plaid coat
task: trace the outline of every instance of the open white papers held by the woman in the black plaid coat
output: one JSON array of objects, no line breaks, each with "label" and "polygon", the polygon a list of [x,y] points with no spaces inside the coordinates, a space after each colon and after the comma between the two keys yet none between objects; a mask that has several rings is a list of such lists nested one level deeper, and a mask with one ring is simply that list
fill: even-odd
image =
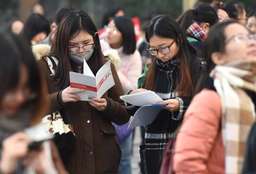
[{"label": "open white papers held by the woman in the black plaid coat", "polygon": [[142,106],[135,112],[128,129],[153,123],[162,109],[160,106],[167,106],[167,104],[155,105],[156,102],[163,100],[150,90],[130,95],[122,95],[120,99],[134,106]]}]

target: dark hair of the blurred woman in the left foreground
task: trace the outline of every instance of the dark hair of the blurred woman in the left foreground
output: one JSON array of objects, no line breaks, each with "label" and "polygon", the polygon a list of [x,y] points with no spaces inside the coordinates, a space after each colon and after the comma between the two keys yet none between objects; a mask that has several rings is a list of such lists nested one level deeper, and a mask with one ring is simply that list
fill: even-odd
[{"label": "dark hair of the blurred woman in the left foreground", "polygon": [[31,123],[36,123],[43,117],[46,93],[43,89],[35,57],[30,46],[24,42],[24,38],[9,32],[0,33],[0,38],[0,104],[6,93],[18,87],[20,70],[24,66],[29,75],[28,87],[32,93],[37,94],[33,101],[27,103],[35,106]]}]

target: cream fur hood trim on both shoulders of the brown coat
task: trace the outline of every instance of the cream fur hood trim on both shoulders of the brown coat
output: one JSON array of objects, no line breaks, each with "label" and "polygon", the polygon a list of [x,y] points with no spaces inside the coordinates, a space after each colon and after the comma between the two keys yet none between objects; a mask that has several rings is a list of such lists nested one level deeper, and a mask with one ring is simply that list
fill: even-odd
[{"label": "cream fur hood trim on both shoulders of the brown coat", "polygon": [[[32,47],[32,52],[34,57],[36,58],[36,61],[41,60],[44,56],[49,57],[50,51],[51,46],[49,46],[48,44],[38,44]],[[107,60],[111,60],[111,63],[115,66],[116,70],[118,70],[121,65],[121,58],[119,57],[117,50],[107,50],[104,52],[104,56]]]}]

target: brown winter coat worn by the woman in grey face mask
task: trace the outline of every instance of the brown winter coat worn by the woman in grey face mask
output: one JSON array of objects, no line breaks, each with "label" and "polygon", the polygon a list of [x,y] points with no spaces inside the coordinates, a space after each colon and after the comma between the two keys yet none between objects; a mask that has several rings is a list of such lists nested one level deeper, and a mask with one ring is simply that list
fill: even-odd
[{"label": "brown winter coat worn by the woman in grey face mask", "polygon": [[[39,53],[39,57],[42,56],[46,55]],[[103,64],[106,62],[107,60],[104,59]],[[49,94],[48,100],[51,107],[48,114],[50,114],[63,108],[57,100],[60,87],[51,75],[48,63],[41,59],[38,60],[38,65],[43,79],[47,82],[45,88]],[[111,122],[122,125],[129,121],[130,116],[125,109],[124,102],[119,99],[124,92],[113,64],[111,64],[111,71],[115,85],[102,96],[107,101],[105,111],[96,110],[88,101],[69,102],[64,105],[70,110],[76,135],[75,152],[65,165],[71,174],[119,173],[122,152],[115,139],[117,133]],[[65,116],[62,117],[65,118]]]}]

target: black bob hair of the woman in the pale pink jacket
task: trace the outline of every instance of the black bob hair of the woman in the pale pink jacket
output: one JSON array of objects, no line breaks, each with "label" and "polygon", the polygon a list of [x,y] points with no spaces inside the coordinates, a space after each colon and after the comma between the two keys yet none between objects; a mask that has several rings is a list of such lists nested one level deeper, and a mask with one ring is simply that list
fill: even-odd
[{"label": "black bob hair of the woman in the pale pink jacket", "polygon": [[122,46],[125,54],[133,54],[136,49],[134,24],[128,17],[120,16],[113,18],[117,29],[122,33]]}]

